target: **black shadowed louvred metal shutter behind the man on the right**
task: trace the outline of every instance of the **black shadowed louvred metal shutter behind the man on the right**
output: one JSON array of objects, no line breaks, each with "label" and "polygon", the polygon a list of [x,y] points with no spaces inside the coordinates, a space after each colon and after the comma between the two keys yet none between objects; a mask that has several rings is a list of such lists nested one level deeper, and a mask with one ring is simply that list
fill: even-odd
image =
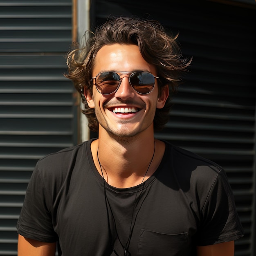
[{"label": "black shadowed louvred metal shutter behind the man on the right", "polygon": [[[238,2],[238,1],[237,1]],[[190,73],[173,96],[170,121],[159,139],[222,165],[234,191],[244,238],[236,256],[255,255],[255,3],[98,0],[92,24],[109,15],[159,20],[178,38]],[[94,137],[95,134],[92,134]]]}]

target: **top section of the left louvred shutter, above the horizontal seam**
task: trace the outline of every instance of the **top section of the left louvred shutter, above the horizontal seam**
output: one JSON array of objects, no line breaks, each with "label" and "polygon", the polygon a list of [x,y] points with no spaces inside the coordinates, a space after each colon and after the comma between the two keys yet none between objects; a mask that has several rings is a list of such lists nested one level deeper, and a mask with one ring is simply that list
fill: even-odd
[{"label": "top section of the left louvred shutter, above the horizontal seam", "polygon": [[72,1],[1,1],[1,52],[65,52],[70,47]]}]

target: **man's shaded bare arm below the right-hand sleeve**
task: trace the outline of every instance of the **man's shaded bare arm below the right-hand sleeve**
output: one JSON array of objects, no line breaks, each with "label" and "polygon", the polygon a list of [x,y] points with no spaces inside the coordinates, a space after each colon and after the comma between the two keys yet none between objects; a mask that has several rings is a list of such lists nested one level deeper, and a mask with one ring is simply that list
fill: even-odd
[{"label": "man's shaded bare arm below the right-hand sleeve", "polygon": [[198,246],[197,256],[234,256],[234,241],[216,245]]}]

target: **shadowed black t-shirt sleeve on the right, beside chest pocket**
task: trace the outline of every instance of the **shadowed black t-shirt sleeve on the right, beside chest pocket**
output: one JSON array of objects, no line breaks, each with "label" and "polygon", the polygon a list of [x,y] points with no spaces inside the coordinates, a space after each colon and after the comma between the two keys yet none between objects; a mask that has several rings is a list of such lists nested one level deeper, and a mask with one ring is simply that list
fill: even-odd
[{"label": "shadowed black t-shirt sleeve on the right, beside chest pocket", "polygon": [[202,205],[201,214],[199,246],[229,242],[243,236],[244,231],[236,211],[234,195],[224,170],[216,176]]}]

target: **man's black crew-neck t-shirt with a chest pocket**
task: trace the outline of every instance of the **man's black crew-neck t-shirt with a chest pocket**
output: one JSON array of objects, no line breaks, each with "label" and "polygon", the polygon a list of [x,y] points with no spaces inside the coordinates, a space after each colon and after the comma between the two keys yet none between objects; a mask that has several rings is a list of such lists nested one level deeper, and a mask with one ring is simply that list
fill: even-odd
[{"label": "man's black crew-neck t-shirt with a chest pocket", "polygon": [[197,245],[243,236],[227,176],[217,164],[166,142],[162,162],[148,180],[127,189],[106,183],[105,196],[90,144],[38,161],[19,234],[58,241],[63,256],[115,255],[111,240],[118,255],[128,243],[132,256],[194,256]]}]

